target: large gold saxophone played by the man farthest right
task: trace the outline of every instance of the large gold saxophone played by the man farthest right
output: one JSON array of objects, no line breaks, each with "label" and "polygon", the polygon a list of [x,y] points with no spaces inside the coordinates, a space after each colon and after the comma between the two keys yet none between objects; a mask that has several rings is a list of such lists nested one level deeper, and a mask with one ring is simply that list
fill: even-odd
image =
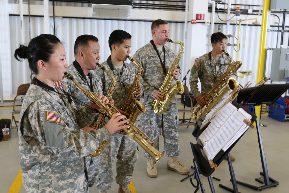
[{"label": "large gold saxophone played by the man farthest right", "polygon": [[227,82],[225,81],[227,76],[230,76],[231,73],[236,72],[242,65],[241,61],[233,61],[233,58],[229,56],[228,52],[223,50],[223,52],[231,59],[230,64],[228,65],[227,71],[223,76],[214,84],[214,86],[203,96],[205,104],[203,106],[196,104],[192,108],[192,119],[198,121],[201,116],[205,116],[209,111],[217,104],[219,100],[228,92],[234,90],[238,87],[238,82],[235,78],[229,78]]}]

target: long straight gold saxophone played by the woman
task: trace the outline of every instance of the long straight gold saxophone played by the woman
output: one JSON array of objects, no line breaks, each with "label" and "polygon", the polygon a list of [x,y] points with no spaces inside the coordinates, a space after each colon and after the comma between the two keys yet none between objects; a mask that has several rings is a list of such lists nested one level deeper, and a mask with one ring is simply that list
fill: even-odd
[{"label": "long straight gold saxophone played by the woman", "polygon": [[[97,93],[85,89],[81,84],[79,84],[79,82],[74,80],[71,74],[65,73],[65,77],[69,80],[72,80],[75,87],[79,89],[89,100],[91,100],[94,104],[97,104],[103,111],[105,111],[108,117],[112,117],[115,113],[119,113],[114,105],[102,102]],[[126,119],[127,118],[124,118],[122,120]],[[139,128],[137,128],[134,123],[129,121],[123,125],[128,126],[128,128],[124,129],[124,131],[129,134],[131,139],[134,139],[146,152],[148,152],[148,154],[154,160],[153,163],[157,163],[163,157],[164,151],[159,152],[156,148],[154,148],[153,146],[155,145],[155,142],[151,140],[146,134],[144,134]]]}]

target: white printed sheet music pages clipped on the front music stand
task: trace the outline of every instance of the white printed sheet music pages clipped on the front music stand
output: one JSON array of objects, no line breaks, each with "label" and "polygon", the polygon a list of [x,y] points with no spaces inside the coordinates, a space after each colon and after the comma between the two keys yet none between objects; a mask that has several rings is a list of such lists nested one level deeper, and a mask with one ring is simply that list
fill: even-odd
[{"label": "white printed sheet music pages clipped on the front music stand", "polygon": [[[232,106],[234,108],[232,108]],[[226,116],[225,112],[230,110],[233,110],[233,112],[231,114],[227,113],[227,118],[225,121],[223,121],[223,116]],[[203,139],[208,139],[208,136],[212,135],[213,133],[210,139],[208,139],[203,146],[204,154],[209,160],[213,159],[221,149],[224,151],[227,150],[231,144],[233,144],[249,128],[249,126],[247,126],[243,120],[249,120],[251,115],[246,113],[242,108],[238,110],[234,105],[229,103],[222,111],[223,112],[220,112],[210,123],[211,125],[214,122],[212,127],[207,127],[205,130],[206,134],[202,136]],[[220,115],[222,115],[221,118]],[[218,125],[220,126],[216,128]]]}]

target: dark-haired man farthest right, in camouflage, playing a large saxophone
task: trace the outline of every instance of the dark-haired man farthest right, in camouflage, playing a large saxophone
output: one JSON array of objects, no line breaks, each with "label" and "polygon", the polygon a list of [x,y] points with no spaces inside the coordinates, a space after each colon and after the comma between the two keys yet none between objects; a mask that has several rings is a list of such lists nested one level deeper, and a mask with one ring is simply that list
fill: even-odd
[{"label": "dark-haired man farthest right, in camouflage, playing a large saxophone", "polygon": [[[207,93],[214,84],[227,71],[231,59],[223,53],[226,49],[227,36],[221,32],[216,32],[211,36],[212,51],[201,56],[193,65],[190,74],[190,89],[198,104],[204,105],[203,95]],[[234,75],[234,78],[237,78]],[[227,76],[226,81],[232,76]],[[198,89],[198,78],[201,82],[201,92]],[[231,155],[231,160],[235,157]]]}]

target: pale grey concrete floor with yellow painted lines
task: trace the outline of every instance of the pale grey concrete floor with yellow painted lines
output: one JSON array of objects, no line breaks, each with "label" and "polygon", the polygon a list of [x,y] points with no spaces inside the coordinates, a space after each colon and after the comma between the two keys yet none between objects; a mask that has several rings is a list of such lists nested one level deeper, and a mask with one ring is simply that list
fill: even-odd
[{"label": "pale grey concrete floor with yellow painted lines", "polygon": [[[9,118],[11,117],[10,111],[13,103],[4,102],[0,103],[0,117]],[[21,102],[18,102],[21,104]],[[181,106],[181,104],[180,104]],[[180,115],[180,118],[183,114]],[[189,115],[186,115],[188,118]],[[285,193],[289,190],[288,177],[288,139],[289,136],[289,122],[278,122],[269,118],[268,116],[262,115],[260,120],[261,124],[267,125],[267,127],[260,127],[261,136],[263,140],[264,152],[266,155],[266,163],[268,168],[269,177],[279,181],[277,187],[271,187],[262,190],[264,193]],[[179,146],[182,154],[179,156],[179,161],[190,168],[193,166],[193,155],[190,147],[190,142],[196,143],[195,138],[191,135],[194,126],[179,126]],[[163,138],[160,136],[160,151],[163,151]],[[18,147],[18,133],[16,129],[12,130],[11,138],[8,141],[0,142],[0,192],[26,192],[25,188],[21,186],[20,190],[15,190],[14,182],[19,170],[19,147]],[[236,160],[232,162],[236,179],[242,182],[246,182],[255,186],[262,186],[261,183],[255,181],[255,178],[261,177],[260,172],[262,171],[260,150],[257,140],[256,128],[249,128],[247,132],[242,136],[240,141],[231,150],[231,155],[236,157]],[[133,182],[137,193],[144,192],[168,192],[168,193],[183,193],[183,192],[194,192],[195,188],[191,185],[190,180],[186,179],[180,182],[181,179],[187,175],[177,174],[176,172],[167,170],[167,158],[164,156],[158,163],[158,177],[149,178],[147,176],[147,163],[146,159],[143,158],[143,150],[140,148],[138,152],[138,161],[134,170]],[[193,169],[190,168],[190,174]],[[226,160],[224,160],[218,167],[218,170],[212,174],[213,177],[221,179],[221,181],[212,180],[215,188],[215,192],[228,192],[219,187],[219,183],[232,188],[230,182],[229,167]],[[201,177],[206,192],[211,192],[206,177]],[[194,184],[196,181],[192,179]],[[16,183],[21,183],[19,180]],[[110,193],[117,192],[118,185],[114,182]],[[238,185],[239,192],[256,192],[242,185]],[[98,193],[95,187],[91,188],[92,193]],[[198,192],[201,192],[199,190]]]}]

